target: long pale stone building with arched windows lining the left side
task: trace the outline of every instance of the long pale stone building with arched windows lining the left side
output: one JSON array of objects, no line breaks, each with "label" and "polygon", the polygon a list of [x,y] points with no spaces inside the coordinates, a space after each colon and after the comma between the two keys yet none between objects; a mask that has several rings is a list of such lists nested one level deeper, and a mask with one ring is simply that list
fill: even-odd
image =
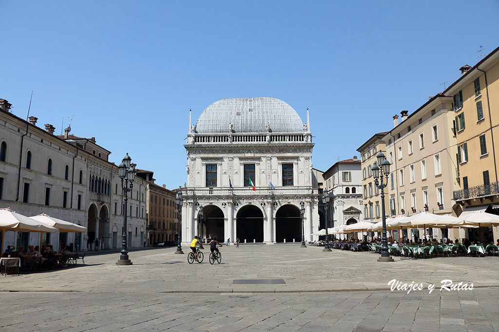
[{"label": "long pale stone building with arched windows lining the left side", "polygon": [[[54,126],[36,125],[37,118],[25,121],[10,112],[0,99],[0,208],[25,216],[45,213],[87,227],[85,233],[5,232],[5,243],[16,247],[59,241],[80,250],[117,248],[123,233],[123,201],[118,167],[108,161],[110,151],[95,138],[69,134],[54,135]],[[127,222],[130,247],[142,245],[145,218],[145,181],[137,179],[129,194]],[[135,213],[132,213],[135,212]]]}]

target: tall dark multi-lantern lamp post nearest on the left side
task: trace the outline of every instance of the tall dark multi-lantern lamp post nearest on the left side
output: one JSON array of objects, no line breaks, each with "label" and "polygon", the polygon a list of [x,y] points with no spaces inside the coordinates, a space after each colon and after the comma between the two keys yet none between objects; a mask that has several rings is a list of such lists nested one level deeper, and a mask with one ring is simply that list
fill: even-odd
[{"label": "tall dark multi-lantern lamp post nearest on the left side", "polygon": [[[121,187],[123,189],[123,241],[121,243],[121,255],[120,259],[116,262],[116,265],[132,265],[132,261],[128,258],[127,249],[127,228],[126,228],[126,217],[128,211],[128,192],[132,191],[133,180],[135,180],[135,164],[130,167],[132,158],[126,154],[125,158],[121,161],[118,166],[119,176],[121,179]],[[130,182],[130,185],[128,185]]]}]

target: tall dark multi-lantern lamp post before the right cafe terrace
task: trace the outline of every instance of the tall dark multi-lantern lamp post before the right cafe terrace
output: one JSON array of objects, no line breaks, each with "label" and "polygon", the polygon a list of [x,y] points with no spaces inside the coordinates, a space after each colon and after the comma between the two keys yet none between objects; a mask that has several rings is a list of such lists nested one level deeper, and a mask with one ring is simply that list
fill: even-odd
[{"label": "tall dark multi-lantern lamp post before the right cafe terrace", "polygon": [[[374,185],[381,189],[381,218],[383,221],[383,232],[382,232],[382,242],[381,242],[381,257],[378,258],[378,262],[393,262],[393,258],[390,256],[388,251],[388,243],[386,240],[386,216],[385,216],[385,187],[388,185],[388,174],[390,174],[390,162],[386,160],[383,152],[379,152],[376,155],[378,159],[378,164],[374,163],[371,170],[374,176]],[[380,165],[380,166],[378,166]],[[381,174],[380,174],[381,171]],[[378,182],[379,178],[379,182]],[[385,182],[383,182],[385,178]]]}]

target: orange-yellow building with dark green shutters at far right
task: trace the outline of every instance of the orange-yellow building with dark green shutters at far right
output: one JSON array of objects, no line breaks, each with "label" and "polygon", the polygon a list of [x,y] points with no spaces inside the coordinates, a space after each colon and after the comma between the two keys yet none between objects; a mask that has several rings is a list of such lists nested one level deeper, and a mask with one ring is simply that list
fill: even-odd
[{"label": "orange-yellow building with dark green shutters at far right", "polygon": [[[451,96],[457,138],[455,163],[459,188],[454,192],[457,215],[482,210],[499,214],[499,48],[474,67],[461,67],[462,76],[444,93]],[[493,229],[494,228],[494,229]],[[498,227],[470,229],[471,240],[492,242]]]}]

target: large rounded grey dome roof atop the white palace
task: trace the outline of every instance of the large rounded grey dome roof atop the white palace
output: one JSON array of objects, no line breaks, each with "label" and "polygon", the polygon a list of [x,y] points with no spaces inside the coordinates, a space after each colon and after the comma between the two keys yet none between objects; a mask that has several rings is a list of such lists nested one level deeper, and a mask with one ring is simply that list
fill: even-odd
[{"label": "large rounded grey dome roof atop the white palace", "polygon": [[196,132],[228,133],[230,123],[234,133],[303,132],[298,113],[283,101],[268,97],[219,100],[201,113]]}]

